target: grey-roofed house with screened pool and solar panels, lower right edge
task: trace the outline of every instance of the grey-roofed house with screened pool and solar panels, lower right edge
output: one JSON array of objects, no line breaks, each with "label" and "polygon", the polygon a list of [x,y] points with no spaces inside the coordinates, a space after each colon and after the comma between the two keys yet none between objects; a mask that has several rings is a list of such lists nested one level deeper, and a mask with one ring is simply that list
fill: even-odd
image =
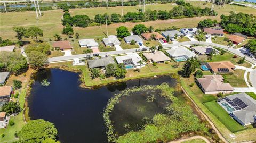
[{"label": "grey-roofed house with screened pool and solar panels, lower right edge", "polygon": [[256,122],[256,100],[244,92],[220,98],[217,102],[240,124]]}]

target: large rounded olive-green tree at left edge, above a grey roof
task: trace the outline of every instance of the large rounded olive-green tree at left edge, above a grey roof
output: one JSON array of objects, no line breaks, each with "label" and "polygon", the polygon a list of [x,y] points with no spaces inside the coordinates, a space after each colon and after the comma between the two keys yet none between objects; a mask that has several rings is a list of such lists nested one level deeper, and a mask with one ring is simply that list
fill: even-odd
[{"label": "large rounded olive-green tree at left edge, above a grey roof", "polygon": [[22,69],[28,67],[26,57],[17,52],[0,52],[0,69],[12,73],[20,73]]}]

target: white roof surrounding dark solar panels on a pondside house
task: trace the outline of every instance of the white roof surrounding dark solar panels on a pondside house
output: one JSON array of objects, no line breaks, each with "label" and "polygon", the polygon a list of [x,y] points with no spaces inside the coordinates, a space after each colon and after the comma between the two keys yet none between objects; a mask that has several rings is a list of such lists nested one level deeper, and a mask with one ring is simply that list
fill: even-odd
[{"label": "white roof surrounding dark solar panels on a pondside house", "polygon": [[[137,53],[127,53],[126,56],[116,56],[115,58],[118,64],[124,63],[123,60],[131,59],[135,66],[139,66],[140,64],[138,62],[142,60],[142,58]],[[146,65],[146,63],[143,62],[143,65]]]}]

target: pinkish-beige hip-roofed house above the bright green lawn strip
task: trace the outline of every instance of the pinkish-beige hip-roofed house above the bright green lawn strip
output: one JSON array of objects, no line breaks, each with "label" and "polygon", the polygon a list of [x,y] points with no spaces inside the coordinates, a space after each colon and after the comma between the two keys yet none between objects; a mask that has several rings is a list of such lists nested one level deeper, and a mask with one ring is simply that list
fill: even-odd
[{"label": "pinkish-beige hip-roofed house above the bright green lawn strip", "polygon": [[234,90],[229,83],[223,82],[221,75],[204,75],[204,78],[197,78],[196,83],[205,94],[229,94]]}]

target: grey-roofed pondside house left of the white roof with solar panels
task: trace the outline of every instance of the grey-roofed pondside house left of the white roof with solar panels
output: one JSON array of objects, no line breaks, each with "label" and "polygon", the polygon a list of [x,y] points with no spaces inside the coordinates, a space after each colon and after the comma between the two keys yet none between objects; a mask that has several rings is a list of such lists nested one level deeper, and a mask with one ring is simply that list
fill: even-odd
[{"label": "grey-roofed pondside house left of the white roof with solar panels", "polygon": [[108,64],[114,64],[115,61],[111,56],[109,57],[102,57],[99,59],[88,60],[89,68],[106,68]]}]

